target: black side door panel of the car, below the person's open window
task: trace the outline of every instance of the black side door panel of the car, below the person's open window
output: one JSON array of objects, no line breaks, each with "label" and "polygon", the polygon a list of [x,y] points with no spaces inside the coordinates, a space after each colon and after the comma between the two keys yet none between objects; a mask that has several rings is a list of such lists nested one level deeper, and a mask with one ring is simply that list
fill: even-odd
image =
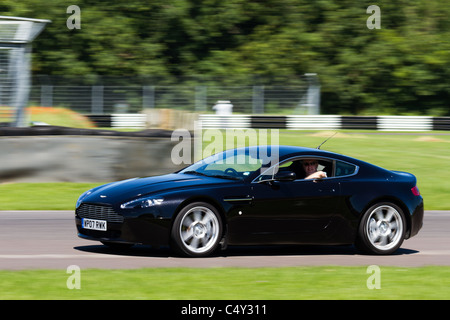
[{"label": "black side door panel of the car, below the person's open window", "polygon": [[339,182],[258,181],[252,183],[251,192],[251,205],[231,221],[230,242],[321,243],[337,211]]}]

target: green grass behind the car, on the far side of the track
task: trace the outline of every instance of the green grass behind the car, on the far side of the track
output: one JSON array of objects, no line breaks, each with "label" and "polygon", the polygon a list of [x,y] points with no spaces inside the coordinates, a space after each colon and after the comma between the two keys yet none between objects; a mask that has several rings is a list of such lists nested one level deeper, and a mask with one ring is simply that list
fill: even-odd
[{"label": "green grass behind the car, on the far side of the track", "polygon": [[[333,132],[280,130],[280,144],[316,147]],[[323,150],[346,154],[416,175],[427,210],[450,209],[450,135],[383,135],[340,132]],[[205,144],[207,145],[207,143]],[[226,146],[226,144],[223,144]],[[0,184],[0,210],[70,210],[77,197],[101,183]]]}]

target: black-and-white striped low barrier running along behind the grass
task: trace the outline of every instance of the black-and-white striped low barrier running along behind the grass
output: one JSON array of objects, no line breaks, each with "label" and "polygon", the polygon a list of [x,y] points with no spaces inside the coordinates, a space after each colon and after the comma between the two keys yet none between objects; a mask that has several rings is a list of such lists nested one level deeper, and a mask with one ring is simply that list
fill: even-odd
[{"label": "black-and-white striped low barrier running along behind the grass", "polygon": [[[151,127],[145,114],[112,114],[88,116],[99,127]],[[450,130],[450,117],[430,116],[340,116],[340,115],[216,115],[200,114],[190,121],[200,120],[205,129],[266,128],[291,130],[382,130],[430,131]],[[184,123],[181,127],[185,126]],[[191,125],[191,127],[193,127]],[[172,129],[176,129],[174,127]]]}]

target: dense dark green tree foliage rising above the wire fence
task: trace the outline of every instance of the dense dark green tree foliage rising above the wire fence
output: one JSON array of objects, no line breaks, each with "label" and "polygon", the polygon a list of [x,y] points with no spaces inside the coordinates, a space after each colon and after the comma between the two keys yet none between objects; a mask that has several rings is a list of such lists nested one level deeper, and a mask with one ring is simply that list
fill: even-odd
[{"label": "dense dark green tree foliage rising above the wire fence", "polygon": [[450,115],[450,3],[371,1],[4,0],[3,15],[52,20],[34,43],[33,72],[187,76],[221,84],[293,85],[319,74],[322,112]]}]

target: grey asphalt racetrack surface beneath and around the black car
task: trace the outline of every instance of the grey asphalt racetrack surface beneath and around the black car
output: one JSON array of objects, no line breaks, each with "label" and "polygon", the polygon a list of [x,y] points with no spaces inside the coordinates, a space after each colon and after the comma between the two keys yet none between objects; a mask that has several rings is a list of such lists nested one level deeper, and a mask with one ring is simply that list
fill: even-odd
[{"label": "grey asphalt racetrack surface beneath and around the black car", "polygon": [[426,211],[419,234],[390,256],[353,246],[229,247],[208,258],[173,256],[169,248],[117,251],[78,238],[73,211],[0,211],[0,269],[450,265],[450,211]]}]

